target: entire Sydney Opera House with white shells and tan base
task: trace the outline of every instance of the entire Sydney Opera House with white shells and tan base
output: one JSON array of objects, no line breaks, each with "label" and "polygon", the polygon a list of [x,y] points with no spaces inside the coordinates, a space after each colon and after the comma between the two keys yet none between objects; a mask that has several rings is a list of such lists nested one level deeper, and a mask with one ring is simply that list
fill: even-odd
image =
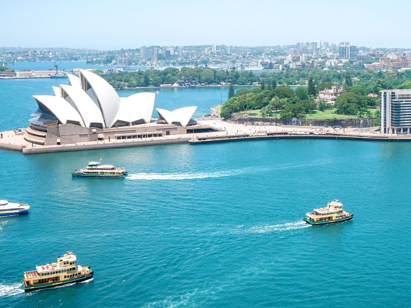
[{"label": "entire Sydney Opera House with white shells and tan base", "polygon": [[119,97],[103,78],[84,69],[68,78],[70,85],[53,87],[54,95],[33,95],[39,109],[29,120],[26,141],[59,145],[201,131],[192,119],[197,107],[156,108],[159,117],[153,119],[155,93]]}]

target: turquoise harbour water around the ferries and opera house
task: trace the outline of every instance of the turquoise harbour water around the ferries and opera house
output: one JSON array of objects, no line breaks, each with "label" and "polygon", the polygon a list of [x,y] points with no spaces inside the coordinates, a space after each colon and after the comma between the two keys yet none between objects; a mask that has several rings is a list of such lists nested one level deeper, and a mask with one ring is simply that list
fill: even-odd
[{"label": "turquoise harbour water around the ferries and opera house", "polygon": [[[54,82],[0,83],[1,130],[27,125]],[[219,103],[220,89],[167,89],[156,106],[191,105],[185,90]],[[129,176],[71,177],[100,157]],[[410,160],[409,143],[342,140],[0,149],[0,199],[31,205],[0,218],[0,306],[408,306]],[[335,198],[354,220],[302,221]],[[23,293],[23,271],[67,250],[94,279]]]}]

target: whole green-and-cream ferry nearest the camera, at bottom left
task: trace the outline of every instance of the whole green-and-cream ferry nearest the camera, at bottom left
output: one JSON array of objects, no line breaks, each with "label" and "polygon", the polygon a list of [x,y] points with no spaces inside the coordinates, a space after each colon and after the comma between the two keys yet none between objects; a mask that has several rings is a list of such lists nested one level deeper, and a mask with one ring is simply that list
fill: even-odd
[{"label": "whole green-and-cream ferry nearest the camera, at bottom left", "polygon": [[34,271],[24,272],[24,292],[41,288],[54,287],[66,283],[84,281],[93,277],[94,271],[90,266],[77,264],[77,257],[72,252],[67,252],[63,257],[57,257],[57,262],[38,265]]}]

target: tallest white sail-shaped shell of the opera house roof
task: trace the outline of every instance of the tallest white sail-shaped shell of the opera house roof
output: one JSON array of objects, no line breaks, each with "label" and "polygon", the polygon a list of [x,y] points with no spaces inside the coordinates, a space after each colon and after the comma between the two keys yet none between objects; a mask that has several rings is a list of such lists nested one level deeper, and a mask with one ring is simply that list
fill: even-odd
[{"label": "tallest white sail-shaped shell of the opera house roof", "polygon": [[120,108],[120,98],[116,90],[99,75],[84,69],[79,69],[81,88],[100,108],[106,127],[116,122]]}]

